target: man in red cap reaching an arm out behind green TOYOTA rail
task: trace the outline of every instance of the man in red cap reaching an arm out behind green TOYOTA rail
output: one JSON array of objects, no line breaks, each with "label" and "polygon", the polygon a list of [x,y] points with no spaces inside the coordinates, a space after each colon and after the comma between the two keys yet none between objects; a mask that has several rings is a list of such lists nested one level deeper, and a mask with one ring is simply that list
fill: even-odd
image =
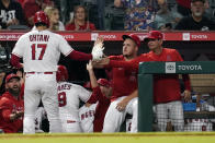
[{"label": "man in red cap reaching an arm out behind green TOYOTA rail", "polygon": [[[143,53],[132,61],[110,61],[109,58],[105,58],[100,63],[109,64],[109,67],[123,67],[137,71],[138,63],[142,61],[183,61],[176,49],[162,47],[162,34],[159,31],[149,32],[145,41],[150,49],[148,53]],[[182,78],[185,85],[184,98],[185,100],[189,100],[191,96],[190,78],[186,74],[183,74]],[[154,83],[154,102],[156,105],[159,130],[166,130],[168,117],[170,117],[174,130],[182,131],[184,121],[179,76],[177,74],[156,75]]]}]

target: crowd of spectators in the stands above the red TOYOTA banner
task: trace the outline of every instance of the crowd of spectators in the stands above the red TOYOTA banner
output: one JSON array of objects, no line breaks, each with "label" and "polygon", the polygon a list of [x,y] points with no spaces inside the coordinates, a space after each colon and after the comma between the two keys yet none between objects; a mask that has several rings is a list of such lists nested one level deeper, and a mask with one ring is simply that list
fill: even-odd
[{"label": "crowd of spectators in the stands above the red TOYOTA banner", "polygon": [[[109,19],[114,26],[117,14],[116,9],[123,14],[122,25],[118,29],[125,31],[150,31],[161,29],[194,29],[190,26],[181,25],[196,17],[195,11],[201,11],[199,20],[193,17],[193,23],[203,24],[199,31],[214,29],[215,2],[213,0],[114,0],[112,2],[99,2],[97,0],[68,1],[63,0],[0,0],[0,29],[32,28],[34,13],[44,10],[50,19],[52,31],[95,31],[109,29],[105,27],[104,19]],[[173,2],[172,2],[173,1]],[[196,4],[196,3],[202,3]],[[109,7],[111,3],[113,7]],[[172,4],[173,3],[173,4]],[[193,3],[193,4],[192,4]],[[93,13],[97,5],[100,12]],[[201,8],[200,8],[201,7]],[[106,8],[106,9],[104,9]],[[112,10],[108,10],[112,9]],[[201,10],[199,10],[201,9]],[[69,11],[69,12],[68,12]],[[110,12],[112,14],[110,14]],[[68,14],[69,13],[69,14]],[[102,15],[102,16],[101,16]],[[109,16],[108,16],[109,15]],[[111,16],[110,16],[111,15]],[[117,15],[118,16],[118,15]],[[122,15],[121,15],[122,16]],[[99,21],[95,21],[98,17]],[[202,19],[202,20],[200,20]],[[120,19],[118,19],[120,20]],[[212,23],[212,26],[204,25]],[[205,27],[206,26],[206,27]],[[117,26],[114,27],[117,29]]]}]

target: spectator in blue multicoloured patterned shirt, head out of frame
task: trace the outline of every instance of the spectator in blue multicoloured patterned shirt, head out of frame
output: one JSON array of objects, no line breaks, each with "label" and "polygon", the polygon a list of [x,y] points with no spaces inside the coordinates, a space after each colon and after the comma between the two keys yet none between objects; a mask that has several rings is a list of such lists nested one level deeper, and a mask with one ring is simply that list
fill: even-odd
[{"label": "spectator in blue multicoloured patterned shirt, head out of frame", "polygon": [[165,0],[114,0],[114,5],[125,8],[125,29],[149,31],[152,29],[158,3],[163,2]]}]

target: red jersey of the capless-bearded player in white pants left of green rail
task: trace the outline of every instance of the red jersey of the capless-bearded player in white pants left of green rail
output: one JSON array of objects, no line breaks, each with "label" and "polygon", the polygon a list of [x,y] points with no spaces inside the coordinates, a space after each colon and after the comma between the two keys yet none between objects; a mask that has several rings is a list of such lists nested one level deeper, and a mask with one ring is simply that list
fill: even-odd
[{"label": "red jersey of the capless-bearded player in white pants left of green rail", "polygon": [[[125,61],[122,55],[110,56],[109,58],[115,61]],[[113,86],[113,95],[111,96],[111,100],[122,96],[128,96],[137,88],[137,70],[132,70],[129,68],[111,68],[111,84]]]}]

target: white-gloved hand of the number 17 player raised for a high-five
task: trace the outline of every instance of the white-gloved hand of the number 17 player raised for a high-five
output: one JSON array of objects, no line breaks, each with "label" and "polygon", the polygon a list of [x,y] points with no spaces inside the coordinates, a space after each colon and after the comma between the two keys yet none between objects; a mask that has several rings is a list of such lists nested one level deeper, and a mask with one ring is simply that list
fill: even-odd
[{"label": "white-gloved hand of the number 17 player raised for a high-five", "polygon": [[101,60],[103,57],[103,38],[98,37],[97,40],[94,41],[94,46],[92,48],[92,60]]}]

